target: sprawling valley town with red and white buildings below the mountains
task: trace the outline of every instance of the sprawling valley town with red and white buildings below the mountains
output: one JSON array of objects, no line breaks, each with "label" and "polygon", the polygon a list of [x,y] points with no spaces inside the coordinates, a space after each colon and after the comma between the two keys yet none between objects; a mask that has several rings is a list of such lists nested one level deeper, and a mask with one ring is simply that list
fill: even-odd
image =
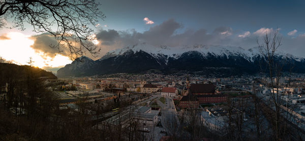
[{"label": "sprawling valley town with red and white buildings below the mountains", "polygon": [[[205,78],[188,73],[119,73],[46,79],[45,83],[57,93],[62,110],[77,111],[79,103],[95,106],[87,112],[88,120],[96,123],[93,126],[97,128],[120,125],[128,129],[131,122],[136,122],[137,130],[143,132],[147,140],[166,140],[178,129],[192,124],[208,127],[208,131],[215,134],[224,133],[229,128],[229,117],[235,117],[231,119],[234,125],[230,126],[242,126],[243,136],[256,136],[258,122],[260,132],[271,132],[272,119],[268,112],[275,110],[270,103],[272,92],[282,101],[281,111],[288,113],[282,112],[282,116],[289,121],[289,126],[304,133],[303,78],[295,74],[275,79],[273,82],[279,83],[279,87],[273,89],[270,78],[259,75]],[[97,107],[102,107],[103,112]],[[191,133],[180,137],[187,138]]]}]

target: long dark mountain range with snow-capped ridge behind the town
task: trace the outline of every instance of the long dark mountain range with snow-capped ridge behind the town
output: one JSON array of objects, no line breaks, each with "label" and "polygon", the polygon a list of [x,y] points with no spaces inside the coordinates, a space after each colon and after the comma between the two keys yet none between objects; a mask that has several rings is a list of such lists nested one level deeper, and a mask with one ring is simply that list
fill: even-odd
[{"label": "long dark mountain range with snow-capped ridge behind the town", "polygon": [[[283,71],[305,73],[305,59],[279,52],[275,60],[284,62]],[[58,77],[82,77],[111,73],[202,72],[203,74],[257,73],[266,67],[258,48],[201,45],[168,47],[146,43],[108,52],[94,61],[82,56],[57,71]]]}]

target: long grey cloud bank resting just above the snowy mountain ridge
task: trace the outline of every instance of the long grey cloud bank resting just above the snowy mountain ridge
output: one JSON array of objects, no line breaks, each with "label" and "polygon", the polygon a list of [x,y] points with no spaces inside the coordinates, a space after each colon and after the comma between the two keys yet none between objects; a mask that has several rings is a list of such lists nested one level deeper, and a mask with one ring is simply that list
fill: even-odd
[{"label": "long grey cloud bank resting just above the snowy mountain ridge", "polygon": [[[278,29],[279,30],[279,29]],[[99,59],[107,52],[124,48],[125,46],[135,45],[145,42],[156,47],[166,45],[169,48],[176,46],[193,46],[196,44],[211,45],[211,46],[240,46],[245,50],[257,46],[257,38],[263,40],[263,35],[274,32],[273,28],[260,28],[251,31],[238,32],[230,27],[219,27],[213,32],[208,32],[207,29],[186,29],[184,26],[174,19],[164,21],[159,25],[154,25],[144,32],[138,32],[135,29],[129,30],[100,30],[96,33],[99,40],[101,53]],[[303,44],[305,44],[304,36],[299,35],[295,38],[283,36],[279,31],[279,36],[283,37],[280,50],[288,53],[302,56],[305,53]],[[272,36],[272,35],[271,35]]]}]

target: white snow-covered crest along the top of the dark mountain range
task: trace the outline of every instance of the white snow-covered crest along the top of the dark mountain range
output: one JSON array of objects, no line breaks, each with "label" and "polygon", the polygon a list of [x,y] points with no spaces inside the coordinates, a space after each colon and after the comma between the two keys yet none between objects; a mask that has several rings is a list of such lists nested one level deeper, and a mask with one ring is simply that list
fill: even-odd
[{"label": "white snow-covered crest along the top of the dark mountain range", "polygon": [[247,60],[251,60],[252,57],[259,55],[259,51],[257,49],[245,50],[241,47],[236,46],[219,46],[219,45],[202,45],[202,44],[195,44],[195,45],[185,45],[185,46],[175,46],[170,47],[166,45],[154,46],[146,43],[140,43],[135,45],[125,46],[122,49],[116,49],[113,51],[108,52],[99,60],[105,60],[110,57],[115,57],[119,55],[123,55],[128,51],[133,51],[133,53],[137,53],[140,51],[146,52],[151,56],[156,58],[160,58],[162,56],[166,56],[168,59],[172,57],[174,59],[179,58],[182,54],[187,52],[196,51],[201,53],[202,56],[241,56],[246,58]]}]

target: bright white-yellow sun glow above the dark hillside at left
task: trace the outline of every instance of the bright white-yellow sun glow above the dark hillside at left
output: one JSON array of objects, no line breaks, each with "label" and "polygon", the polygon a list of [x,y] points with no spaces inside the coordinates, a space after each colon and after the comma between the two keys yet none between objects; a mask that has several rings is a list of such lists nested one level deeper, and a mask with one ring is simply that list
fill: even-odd
[{"label": "bright white-yellow sun glow above the dark hillside at left", "polygon": [[[3,35],[2,35],[3,36]],[[18,65],[28,65],[29,57],[34,61],[33,65],[39,68],[58,67],[71,63],[68,57],[63,55],[47,56],[48,53],[36,51],[31,48],[34,40],[31,36],[20,32],[5,34],[6,39],[0,39],[0,56]]]}]

